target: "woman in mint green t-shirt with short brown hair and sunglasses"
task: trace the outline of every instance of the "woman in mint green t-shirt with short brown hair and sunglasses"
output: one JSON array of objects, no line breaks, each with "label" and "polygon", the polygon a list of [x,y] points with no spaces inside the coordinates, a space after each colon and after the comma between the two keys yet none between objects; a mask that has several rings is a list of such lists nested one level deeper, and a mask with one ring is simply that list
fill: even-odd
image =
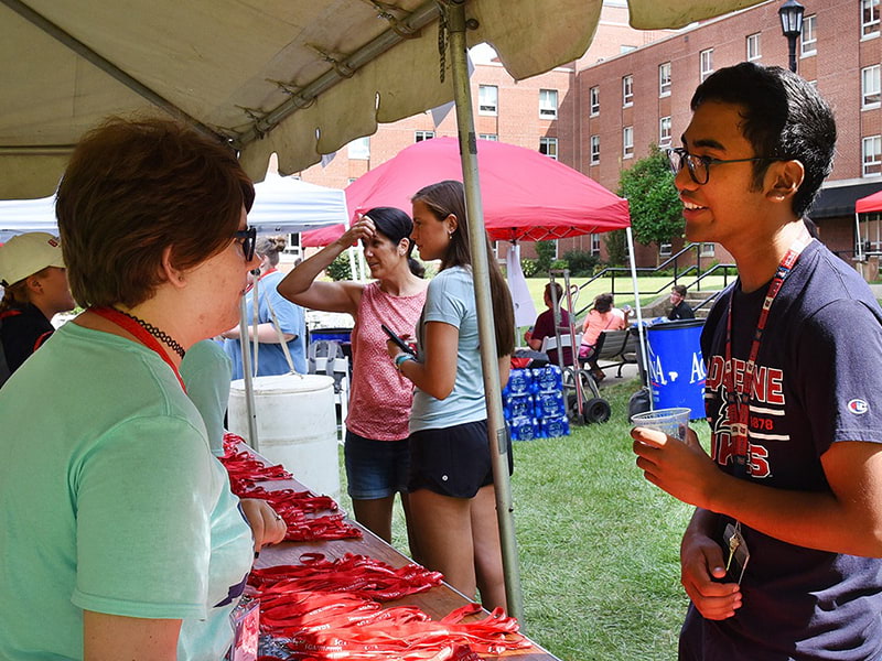
[{"label": "woman in mint green t-shirt with short brown hair and sunglasses", "polygon": [[219,659],[255,548],[184,392],[187,348],[229,328],[255,268],[254,188],[220,143],[110,120],[56,214],[86,312],[0,394],[0,658]]}]

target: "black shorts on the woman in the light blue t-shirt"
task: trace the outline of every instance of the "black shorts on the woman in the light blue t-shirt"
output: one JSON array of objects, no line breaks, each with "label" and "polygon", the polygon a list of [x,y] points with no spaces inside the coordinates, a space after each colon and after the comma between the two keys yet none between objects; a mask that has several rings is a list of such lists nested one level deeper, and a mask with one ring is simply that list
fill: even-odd
[{"label": "black shorts on the woman in the light blue t-shirt", "polygon": [[[512,475],[512,440],[506,438]],[[429,489],[451,498],[474,498],[481,487],[492,484],[486,420],[410,434],[408,491]]]}]

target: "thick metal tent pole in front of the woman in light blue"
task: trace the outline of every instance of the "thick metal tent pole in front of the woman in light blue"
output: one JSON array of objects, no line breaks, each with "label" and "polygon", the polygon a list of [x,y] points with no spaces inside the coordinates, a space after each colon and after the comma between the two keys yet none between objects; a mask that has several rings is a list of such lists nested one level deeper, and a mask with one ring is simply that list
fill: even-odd
[{"label": "thick metal tent pole in front of the woman in light blue", "polygon": [[493,460],[493,483],[496,491],[496,517],[499,523],[505,595],[508,602],[508,614],[517,618],[523,628],[524,598],[517,562],[512,485],[508,478],[508,431],[503,418],[499,361],[496,357],[496,333],[490,290],[486,229],[477,174],[477,144],[474,117],[472,116],[472,90],[469,84],[465,0],[448,0],[444,7],[450,30],[450,62],[453,69],[453,98],[456,104],[456,132],[462,158],[465,208],[469,213],[469,247],[472,253],[472,273],[477,305],[481,364],[484,371],[484,395],[487,402],[487,441]]}]

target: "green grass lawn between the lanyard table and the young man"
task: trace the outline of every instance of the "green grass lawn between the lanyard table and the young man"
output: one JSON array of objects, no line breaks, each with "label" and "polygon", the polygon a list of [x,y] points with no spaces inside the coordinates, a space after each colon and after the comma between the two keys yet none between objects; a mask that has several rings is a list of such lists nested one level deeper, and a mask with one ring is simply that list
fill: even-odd
[{"label": "green grass lawn between the lanyard table and the young man", "polygon": [[[564,661],[676,658],[687,606],[678,550],[691,508],[634,465],[626,410],[636,388],[602,391],[613,410],[605,424],[514,445],[524,625]],[[706,423],[693,427],[707,440]],[[398,508],[392,543],[407,553]]]}]

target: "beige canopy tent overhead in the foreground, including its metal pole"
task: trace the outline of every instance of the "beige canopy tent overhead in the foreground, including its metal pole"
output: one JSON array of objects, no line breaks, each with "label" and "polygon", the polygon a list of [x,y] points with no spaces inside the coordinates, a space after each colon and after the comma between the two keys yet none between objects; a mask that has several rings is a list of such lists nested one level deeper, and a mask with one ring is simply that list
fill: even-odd
[{"label": "beige canopy tent overhead in the foreground, including its metal pole", "polygon": [[[628,0],[637,29],[761,0]],[[455,98],[488,432],[512,615],[523,620],[465,51],[487,42],[523,79],[581,56],[601,0],[0,0],[0,198],[50,194],[78,137],[162,108],[240,150],[252,177]]]}]

